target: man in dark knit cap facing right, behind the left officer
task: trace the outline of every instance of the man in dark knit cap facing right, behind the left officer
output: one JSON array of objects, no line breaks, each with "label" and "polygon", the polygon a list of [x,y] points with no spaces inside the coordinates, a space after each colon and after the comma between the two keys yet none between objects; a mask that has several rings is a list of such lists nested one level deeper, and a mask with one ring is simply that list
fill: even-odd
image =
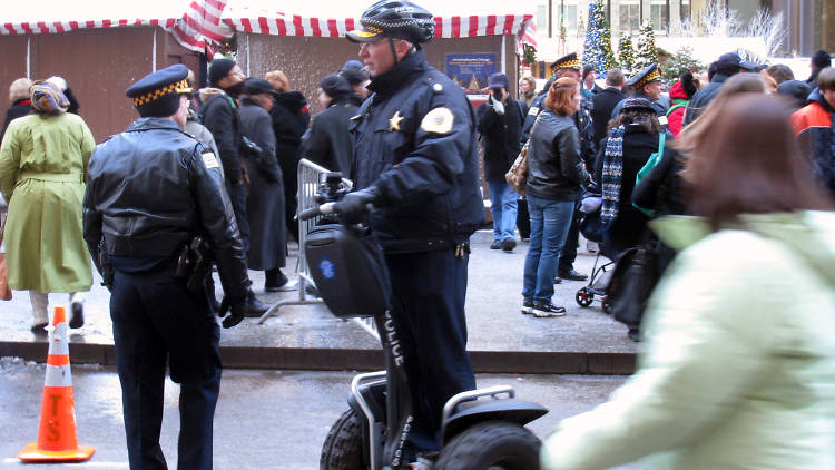
[{"label": "man in dark knit cap facing right, behind the left officer", "polygon": [[[244,91],[244,72],[240,71],[240,67],[234,60],[215,59],[209,67],[209,82],[213,88],[202,90],[200,97],[204,100],[203,125],[215,137],[217,150],[220,153],[226,192],[235,212],[240,241],[244,243],[244,252],[248,253],[249,223],[246,214],[246,189],[244,186],[247,175],[240,159],[243,137],[236,101]],[[267,309],[269,306],[258,301],[250,291],[246,300],[247,316],[261,316]]]}]

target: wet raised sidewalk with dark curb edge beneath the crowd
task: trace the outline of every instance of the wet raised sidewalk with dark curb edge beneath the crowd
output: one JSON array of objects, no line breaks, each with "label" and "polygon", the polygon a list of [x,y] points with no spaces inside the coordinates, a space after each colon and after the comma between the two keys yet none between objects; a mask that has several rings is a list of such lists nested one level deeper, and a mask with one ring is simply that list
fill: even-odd
[{"label": "wet raised sidewalk with dark curb edge beneath the crowd", "polygon": [[[472,237],[466,319],[469,343],[477,372],[630,374],[639,344],[627,337],[627,327],[606,315],[599,302],[580,307],[574,295],[586,282],[557,284],[553,303],[568,313],[537,319],[520,313],[522,267],[527,243],[512,253],[491,251],[492,231]],[[595,255],[584,241],[574,267],[590,273]],[[298,248],[292,245],[285,273],[294,277]],[[94,270],[95,273],[95,270]],[[256,295],[265,302],[298,300],[295,292],[264,293],[264,273],[249,272]],[[115,364],[109,293],[95,276],[85,306],[86,324],[70,330],[72,362]],[[220,298],[219,282],[217,296]],[[67,294],[51,294],[53,305],[67,305]],[[32,333],[31,307],[26,291],[14,291],[0,302],[0,356],[43,362],[46,333]],[[282,370],[379,370],[383,368],[380,343],[360,324],[334,317],[322,303],[284,305],[263,324],[247,319],[223,330],[220,354],[225,368]]]}]

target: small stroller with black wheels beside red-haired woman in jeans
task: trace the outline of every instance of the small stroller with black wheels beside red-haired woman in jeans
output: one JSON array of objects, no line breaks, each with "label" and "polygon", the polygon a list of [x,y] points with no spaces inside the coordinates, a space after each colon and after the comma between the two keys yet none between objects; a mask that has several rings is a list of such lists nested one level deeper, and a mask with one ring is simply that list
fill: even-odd
[{"label": "small stroller with black wheels beside red-haired woman in jeans", "polygon": [[[602,196],[597,192],[587,192],[583,194],[582,203],[580,205],[580,233],[587,239],[597,242],[600,244],[600,249],[595,258],[595,264],[591,267],[591,275],[589,276],[589,283],[577,291],[574,300],[577,304],[587,307],[595,302],[595,297],[601,302],[603,312],[609,313],[609,304],[606,298],[606,287],[609,285],[611,280],[611,272],[616,263],[617,254],[607,253],[603,246],[603,235],[606,234],[606,227],[600,219],[600,207],[602,206]],[[601,260],[601,257],[608,260]]]}]

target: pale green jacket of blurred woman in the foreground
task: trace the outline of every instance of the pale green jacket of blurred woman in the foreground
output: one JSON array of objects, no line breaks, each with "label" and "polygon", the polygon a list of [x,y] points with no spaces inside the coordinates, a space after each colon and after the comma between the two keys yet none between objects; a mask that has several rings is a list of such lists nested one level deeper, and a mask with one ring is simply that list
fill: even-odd
[{"label": "pale green jacket of blurred woman in the foreground", "polygon": [[650,298],[638,371],[557,427],[544,470],[835,469],[835,214],[743,221],[652,223],[686,248]]}]

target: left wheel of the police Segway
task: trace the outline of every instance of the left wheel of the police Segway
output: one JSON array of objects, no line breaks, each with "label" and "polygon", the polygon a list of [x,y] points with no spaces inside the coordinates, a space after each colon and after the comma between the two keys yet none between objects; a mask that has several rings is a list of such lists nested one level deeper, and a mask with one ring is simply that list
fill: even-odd
[{"label": "left wheel of the police Segway", "polygon": [[365,470],[362,422],[354,410],[342,413],[322,445],[320,470]]}]

